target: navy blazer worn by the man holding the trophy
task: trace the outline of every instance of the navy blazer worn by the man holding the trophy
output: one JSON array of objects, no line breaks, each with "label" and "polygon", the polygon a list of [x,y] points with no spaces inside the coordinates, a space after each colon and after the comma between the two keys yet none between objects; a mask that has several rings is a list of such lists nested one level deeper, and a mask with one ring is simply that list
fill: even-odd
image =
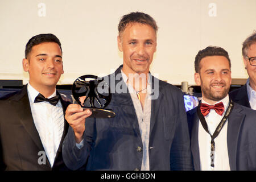
[{"label": "navy blazer worn by the man holding the trophy", "polygon": [[[121,74],[121,68],[122,65],[105,80]],[[109,82],[111,87],[123,85],[127,91],[123,80],[112,81]],[[175,86],[152,77],[152,88],[157,86],[159,97],[151,103],[150,170],[190,170],[192,159],[183,93]],[[115,117],[86,118],[84,147],[80,150],[75,146],[74,133],[69,127],[63,142],[63,159],[68,168],[77,169],[86,163],[88,170],[141,169],[143,144],[129,92],[113,93],[106,109],[112,109]]]}]

